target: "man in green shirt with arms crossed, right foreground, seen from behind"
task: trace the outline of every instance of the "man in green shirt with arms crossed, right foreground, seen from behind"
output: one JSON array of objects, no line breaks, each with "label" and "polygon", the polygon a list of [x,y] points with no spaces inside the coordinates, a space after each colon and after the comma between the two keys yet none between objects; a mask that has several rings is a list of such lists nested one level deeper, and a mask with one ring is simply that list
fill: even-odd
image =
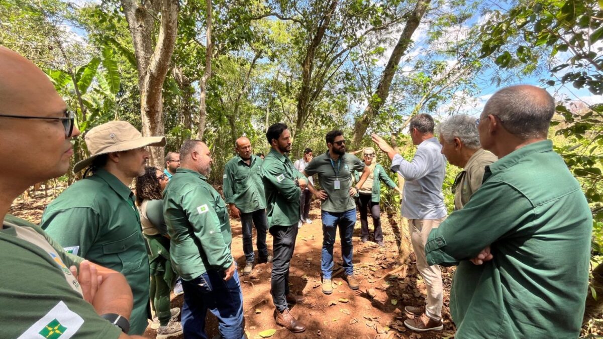
[{"label": "man in green shirt with arms crossed, right foreground, seen from behind", "polygon": [[[589,282],[592,214],[547,140],[555,101],[511,86],[476,121],[499,160],[463,209],[432,229],[430,265],[459,265],[450,291],[456,338],[576,338]],[[551,185],[554,183],[554,185]]]}]

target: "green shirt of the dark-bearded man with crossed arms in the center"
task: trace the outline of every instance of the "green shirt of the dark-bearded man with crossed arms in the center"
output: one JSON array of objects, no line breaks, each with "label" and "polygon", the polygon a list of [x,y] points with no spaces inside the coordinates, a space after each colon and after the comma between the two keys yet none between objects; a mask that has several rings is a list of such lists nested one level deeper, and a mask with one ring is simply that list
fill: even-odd
[{"label": "green shirt of the dark-bearded man with crossed arms in the center", "polygon": [[301,189],[295,179],[306,179],[291,160],[276,150],[264,158],[262,182],[268,203],[268,227],[297,225],[300,220]]}]

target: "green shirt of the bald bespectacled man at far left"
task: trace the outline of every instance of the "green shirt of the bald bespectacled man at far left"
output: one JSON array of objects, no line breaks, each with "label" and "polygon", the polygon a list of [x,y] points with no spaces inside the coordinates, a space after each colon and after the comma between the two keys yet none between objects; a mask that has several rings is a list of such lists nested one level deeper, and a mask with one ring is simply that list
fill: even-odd
[{"label": "green shirt of the bald bespectacled man at far left", "polygon": [[[58,258],[18,238],[19,228],[39,233],[40,241],[46,239]],[[81,258],[69,256],[39,227],[7,215],[0,230],[0,257],[2,338],[109,339],[121,335],[65,279],[64,268],[79,265]]]}]

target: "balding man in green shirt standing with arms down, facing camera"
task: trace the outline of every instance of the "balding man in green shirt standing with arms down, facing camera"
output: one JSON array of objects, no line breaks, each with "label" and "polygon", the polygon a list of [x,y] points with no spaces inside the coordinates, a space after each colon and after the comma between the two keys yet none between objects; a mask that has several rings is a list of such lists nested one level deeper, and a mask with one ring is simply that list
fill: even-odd
[{"label": "balding man in green shirt standing with arms down, facing camera", "polygon": [[272,262],[266,247],[266,232],[268,220],[266,218],[266,195],[264,183],[260,177],[262,160],[251,153],[251,142],[242,136],[236,139],[235,151],[237,155],[226,163],[224,168],[224,198],[229,204],[230,214],[233,218],[241,217],[243,228],[243,253],[245,253],[245,268],[243,274],[251,274],[255,255],[253,253],[253,240],[251,239],[252,223],[257,231],[257,262]]}]

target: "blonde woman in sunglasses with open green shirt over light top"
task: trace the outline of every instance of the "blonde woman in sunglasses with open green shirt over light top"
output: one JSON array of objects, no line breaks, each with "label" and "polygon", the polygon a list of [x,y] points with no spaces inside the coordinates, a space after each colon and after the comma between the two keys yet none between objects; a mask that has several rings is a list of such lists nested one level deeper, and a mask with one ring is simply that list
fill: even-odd
[{"label": "blonde woman in sunglasses with open green shirt over light top", "polygon": [[[380,247],[385,246],[383,243],[383,232],[381,230],[381,211],[379,209],[379,200],[381,197],[381,185],[379,180],[384,182],[385,185],[390,186],[396,191],[402,194],[400,188],[391,180],[385,172],[383,166],[377,163],[377,156],[373,147],[367,147],[362,152],[362,160],[365,165],[368,166],[370,174],[367,180],[362,184],[358,191],[358,209],[360,210],[360,234],[362,242],[368,241],[368,213],[367,209],[370,210],[371,216],[373,217],[373,238],[374,241],[379,244]],[[360,179],[360,173],[354,173],[356,182]]]}]

